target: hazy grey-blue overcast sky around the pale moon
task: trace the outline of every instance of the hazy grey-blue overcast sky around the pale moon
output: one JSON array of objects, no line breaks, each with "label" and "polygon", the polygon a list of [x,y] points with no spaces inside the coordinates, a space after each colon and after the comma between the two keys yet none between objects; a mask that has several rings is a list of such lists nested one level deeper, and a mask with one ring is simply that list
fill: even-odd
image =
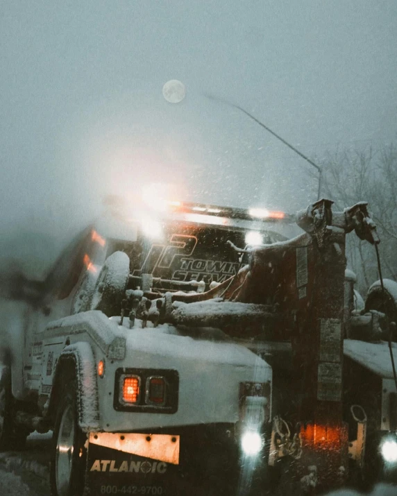
[{"label": "hazy grey-blue overcast sky around the pale moon", "polygon": [[[310,165],[208,93],[319,162],[397,139],[395,0],[14,0],[0,12],[1,226],[56,234],[150,180],[215,204],[315,199]],[[162,97],[175,78],[178,105]]]}]

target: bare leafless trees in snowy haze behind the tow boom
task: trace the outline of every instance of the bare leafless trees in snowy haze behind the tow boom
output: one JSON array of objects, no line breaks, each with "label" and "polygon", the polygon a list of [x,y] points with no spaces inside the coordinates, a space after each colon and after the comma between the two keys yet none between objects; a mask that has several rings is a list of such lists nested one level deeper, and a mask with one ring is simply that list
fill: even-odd
[{"label": "bare leafless trees in snowy haze behind the tow boom", "polygon": [[[322,191],[339,209],[369,203],[381,239],[383,275],[397,280],[397,146],[329,153],[323,160]],[[375,250],[357,237],[348,237],[347,243],[348,265],[365,293],[378,279]]]}]

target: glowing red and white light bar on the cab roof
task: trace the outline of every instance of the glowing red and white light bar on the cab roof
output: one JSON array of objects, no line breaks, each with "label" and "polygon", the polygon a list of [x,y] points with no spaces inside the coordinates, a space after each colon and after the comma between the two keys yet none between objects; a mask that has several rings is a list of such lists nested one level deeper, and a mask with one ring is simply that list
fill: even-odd
[{"label": "glowing red and white light bar on the cab roof", "polygon": [[[268,210],[265,208],[232,208],[232,207],[218,207],[217,205],[202,205],[200,203],[188,203],[172,201],[168,203],[171,211],[196,214],[198,216],[222,217],[223,219],[244,219],[247,221],[260,220],[260,221],[284,221],[286,223],[294,223],[294,216],[286,214],[278,210]],[[197,218],[198,221],[198,218]],[[214,221],[214,224],[217,222]],[[218,223],[225,223],[219,219]]]}]

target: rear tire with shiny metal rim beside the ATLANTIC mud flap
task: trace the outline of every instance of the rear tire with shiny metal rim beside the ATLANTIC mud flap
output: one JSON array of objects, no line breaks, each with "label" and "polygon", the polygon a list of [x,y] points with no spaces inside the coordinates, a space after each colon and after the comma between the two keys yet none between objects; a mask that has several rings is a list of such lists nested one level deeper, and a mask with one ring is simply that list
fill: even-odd
[{"label": "rear tire with shiny metal rim beside the ATLANTIC mud flap", "polygon": [[76,378],[62,377],[62,384],[65,386],[56,409],[51,447],[51,495],[81,496],[85,479],[87,450],[84,444],[87,436],[78,427]]}]

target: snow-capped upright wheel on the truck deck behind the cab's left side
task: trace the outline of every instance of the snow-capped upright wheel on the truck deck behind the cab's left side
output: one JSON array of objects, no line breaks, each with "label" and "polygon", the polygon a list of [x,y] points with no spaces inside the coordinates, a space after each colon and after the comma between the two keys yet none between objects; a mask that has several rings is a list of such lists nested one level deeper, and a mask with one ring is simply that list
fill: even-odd
[{"label": "snow-capped upright wheel on the truck deck behind the cab's left side", "polygon": [[119,315],[129,276],[128,255],[122,251],[116,251],[110,255],[96,280],[91,309],[101,310],[108,317]]}]

